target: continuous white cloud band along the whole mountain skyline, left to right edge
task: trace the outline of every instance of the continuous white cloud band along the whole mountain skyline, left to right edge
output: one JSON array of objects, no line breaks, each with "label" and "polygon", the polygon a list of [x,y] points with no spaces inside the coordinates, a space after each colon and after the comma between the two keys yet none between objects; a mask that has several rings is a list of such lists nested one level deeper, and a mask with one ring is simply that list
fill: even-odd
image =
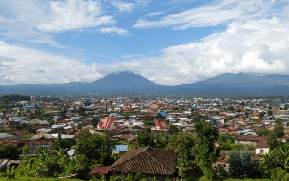
[{"label": "continuous white cloud band along the whole mountain skyline, left to right edge", "polygon": [[[232,22],[223,32],[169,46],[159,56],[136,59],[141,55],[124,55],[133,59],[106,64],[86,64],[0,41],[0,56],[6,57],[1,59],[0,80],[5,84],[92,82],[112,72],[132,71],[157,84],[176,85],[221,73],[287,74],[288,47],[289,22],[280,17]],[[9,71],[3,66],[10,66]]]}]

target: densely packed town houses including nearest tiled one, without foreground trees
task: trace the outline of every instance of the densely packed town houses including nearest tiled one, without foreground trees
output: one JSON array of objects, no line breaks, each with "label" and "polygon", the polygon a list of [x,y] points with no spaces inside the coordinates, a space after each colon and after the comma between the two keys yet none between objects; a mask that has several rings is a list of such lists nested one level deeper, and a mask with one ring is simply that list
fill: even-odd
[{"label": "densely packed town houses including nearest tiled one, without foreground trees", "polygon": [[[217,160],[211,165],[212,168],[222,166],[228,170],[229,154],[241,148],[238,145],[245,145],[252,160],[258,162],[262,160],[260,154],[269,153],[274,144],[289,142],[288,102],[279,99],[138,97],[43,101],[31,97],[29,101],[11,102],[1,111],[0,146],[15,145],[20,153],[17,160],[0,160],[1,171],[10,172],[10,164],[19,165],[24,156],[36,157],[39,148],[51,150],[58,139],[68,139],[74,145],[67,150],[72,159],[76,155],[79,133],[88,130],[89,134],[105,137],[104,144],[108,144],[106,142],[109,140],[115,141],[112,152],[119,159],[111,165],[93,168],[85,178],[142,173],[158,176],[159,180],[173,179],[178,176],[177,153],[160,149],[162,147],[154,148],[154,145],[158,147],[161,144],[158,138],[152,140],[152,146],[147,146],[138,141],[138,136],[145,130],[151,134],[176,130],[196,135],[195,124],[200,120],[212,125],[219,135],[233,139],[230,146],[234,148],[221,149]],[[24,109],[26,107],[29,108]],[[277,143],[268,141],[266,132],[272,132],[280,125],[284,135],[276,138]],[[217,140],[212,144],[215,144],[215,148],[224,146]],[[161,158],[164,155],[171,155],[170,160]],[[161,163],[154,163],[156,160]]]}]

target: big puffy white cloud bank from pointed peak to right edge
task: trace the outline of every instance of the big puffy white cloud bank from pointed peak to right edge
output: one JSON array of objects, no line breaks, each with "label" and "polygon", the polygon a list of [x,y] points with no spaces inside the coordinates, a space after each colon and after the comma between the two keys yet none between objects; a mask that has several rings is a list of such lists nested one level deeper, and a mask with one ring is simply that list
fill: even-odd
[{"label": "big puffy white cloud bank from pointed peak to right edge", "polygon": [[95,65],[95,70],[101,74],[139,70],[149,80],[165,85],[192,83],[222,73],[287,74],[288,47],[289,22],[279,17],[263,18],[232,22],[224,32],[199,42],[169,46],[160,56]]}]

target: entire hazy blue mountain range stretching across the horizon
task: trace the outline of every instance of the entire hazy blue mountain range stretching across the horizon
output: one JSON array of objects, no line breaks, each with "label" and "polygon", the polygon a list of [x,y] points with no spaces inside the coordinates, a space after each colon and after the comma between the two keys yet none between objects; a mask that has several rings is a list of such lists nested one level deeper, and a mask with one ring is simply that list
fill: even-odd
[{"label": "entire hazy blue mountain range stretching across the horizon", "polygon": [[203,81],[175,86],[157,85],[131,72],[112,73],[92,83],[20,84],[0,86],[0,94],[253,94],[289,93],[289,75],[221,74]]}]

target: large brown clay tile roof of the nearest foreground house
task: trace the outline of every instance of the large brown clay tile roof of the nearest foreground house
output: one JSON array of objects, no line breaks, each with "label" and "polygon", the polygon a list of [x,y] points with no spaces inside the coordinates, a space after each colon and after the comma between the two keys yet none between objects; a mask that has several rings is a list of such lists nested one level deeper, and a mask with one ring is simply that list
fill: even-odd
[{"label": "large brown clay tile roof of the nearest foreground house", "polygon": [[148,146],[127,152],[108,171],[170,175],[175,171],[176,157],[175,152]]}]

